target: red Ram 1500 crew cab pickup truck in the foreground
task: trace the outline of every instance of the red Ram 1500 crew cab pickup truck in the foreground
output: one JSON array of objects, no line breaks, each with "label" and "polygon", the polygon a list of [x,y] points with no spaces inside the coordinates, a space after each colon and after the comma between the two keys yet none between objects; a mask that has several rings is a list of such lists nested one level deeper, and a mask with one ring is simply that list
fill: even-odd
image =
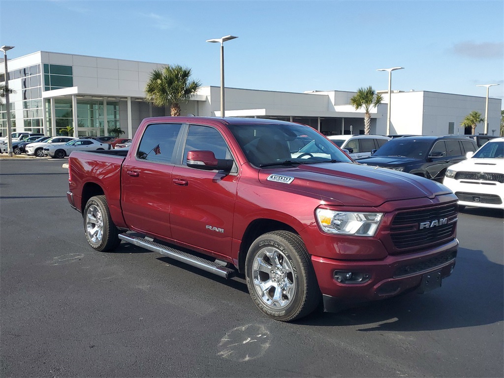
[{"label": "red Ram 1500 crew cab pickup truck in the foreground", "polygon": [[[299,147],[313,144],[313,153]],[[68,200],[96,250],[121,240],[205,271],[244,274],[280,321],[320,304],[441,285],[455,266],[457,197],[361,165],[316,130],[255,118],[155,117],[129,150],[73,152]]]}]

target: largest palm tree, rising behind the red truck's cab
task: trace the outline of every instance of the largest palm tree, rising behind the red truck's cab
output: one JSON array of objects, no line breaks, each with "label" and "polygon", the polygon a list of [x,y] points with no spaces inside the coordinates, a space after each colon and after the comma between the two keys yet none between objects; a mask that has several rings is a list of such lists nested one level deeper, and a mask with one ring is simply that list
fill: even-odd
[{"label": "largest palm tree, rising behind the red truck's cab", "polygon": [[180,102],[191,100],[201,87],[191,74],[190,68],[179,65],[152,71],[145,87],[146,101],[158,107],[170,105],[171,115],[180,115]]}]

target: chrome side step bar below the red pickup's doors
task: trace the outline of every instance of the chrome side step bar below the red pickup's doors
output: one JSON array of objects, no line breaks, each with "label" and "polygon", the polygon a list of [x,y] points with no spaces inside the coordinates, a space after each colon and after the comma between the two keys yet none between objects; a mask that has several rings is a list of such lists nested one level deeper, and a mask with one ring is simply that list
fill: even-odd
[{"label": "chrome side step bar below the red pickup's doors", "polygon": [[213,273],[223,278],[231,278],[236,274],[235,270],[223,267],[222,263],[202,259],[167,245],[156,243],[155,241],[149,240],[145,237],[123,233],[119,234],[119,239],[139,247],[152,250],[153,252],[157,252],[161,255],[168,256],[173,260],[200,268],[205,272]]}]

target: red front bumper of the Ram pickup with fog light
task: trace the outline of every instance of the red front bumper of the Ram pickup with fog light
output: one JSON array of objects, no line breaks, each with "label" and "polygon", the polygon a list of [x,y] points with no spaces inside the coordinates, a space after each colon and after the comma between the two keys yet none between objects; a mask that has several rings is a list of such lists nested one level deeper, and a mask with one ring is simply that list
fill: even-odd
[{"label": "red front bumper of the Ram pickup with fog light", "polygon": [[[324,295],[325,309],[334,311],[342,304],[385,299],[413,291],[420,287],[426,274],[439,272],[440,278],[450,276],[455,267],[457,247],[458,241],[454,239],[421,253],[388,256],[378,261],[342,261],[312,256],[311,262]],[[338,282],[336,277],[341,276],[341,272],[367,278],[362,283]]]}]

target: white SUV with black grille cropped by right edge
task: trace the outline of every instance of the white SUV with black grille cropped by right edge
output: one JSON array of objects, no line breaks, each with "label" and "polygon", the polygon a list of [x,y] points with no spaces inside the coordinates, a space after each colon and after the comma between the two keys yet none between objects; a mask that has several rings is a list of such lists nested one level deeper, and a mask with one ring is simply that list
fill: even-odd
[{"label": "white SUV with black grille cropped by right edge", "polygon": [[504,138],[491,139],[466,156],[447,169],[443,180],[459,198],[459,207],[504,209]]}]

